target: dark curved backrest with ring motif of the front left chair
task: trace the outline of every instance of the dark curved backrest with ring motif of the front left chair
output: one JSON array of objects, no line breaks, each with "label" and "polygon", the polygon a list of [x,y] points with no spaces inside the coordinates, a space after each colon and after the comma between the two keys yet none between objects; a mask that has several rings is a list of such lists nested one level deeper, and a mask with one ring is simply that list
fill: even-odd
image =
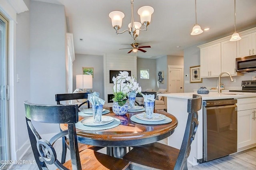
[{"label": "dark curved backrest with ring motif of the front left chair", "polygon": [[[24,106],[28,135],[38,168],[48,169],[46,164],[55,164],[61,170],[67,169],[57,159],[54,143],[68,135],[72,169],[81,169],[75,125],[78,122],[78,105],[37,105],[25,101]],[[44,140],[32,125],[31,120],[41,123],[67,123],[68,130],[54,135],[49,141]]]}]

